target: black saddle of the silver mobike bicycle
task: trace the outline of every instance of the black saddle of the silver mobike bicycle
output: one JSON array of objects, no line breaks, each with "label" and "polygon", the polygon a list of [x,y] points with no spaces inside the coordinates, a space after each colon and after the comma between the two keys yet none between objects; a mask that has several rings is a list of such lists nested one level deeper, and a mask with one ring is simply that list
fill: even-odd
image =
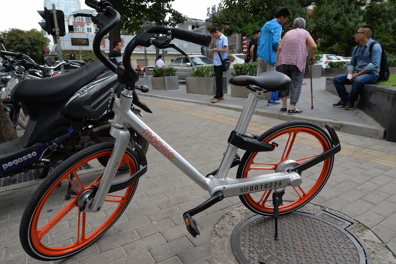
[{"label": "black saddle of the silver mobike bicycle", "polygon": [[290,85],[292,80],[289,76],[280,72],[264,72],[259,76],[240,75],[230,79],[230,84],[236,86],[255,85],[269,91],[277,91],[285,86]]}]

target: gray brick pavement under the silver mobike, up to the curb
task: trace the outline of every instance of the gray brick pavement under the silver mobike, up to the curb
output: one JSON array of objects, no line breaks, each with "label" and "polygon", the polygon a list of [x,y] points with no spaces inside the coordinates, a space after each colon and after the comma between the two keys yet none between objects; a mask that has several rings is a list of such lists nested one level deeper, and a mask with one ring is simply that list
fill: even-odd
[{"label": "gray brick pavement under the silver mobike, up to the curb", "polygon": [[[320,93],[316,94],[319,98]],[[326,96],[333,103],[334,96]],[[206,97],[209,101],[210,96]],[[229,134],[239,118],[238,111],[186,100],[144,96],[141,99],[153,111],[153,114],[144,113],[144,122],[201,174],[218,168]],[[225,102],[227,100],[231,99],[226,96]],[[317,104],[319,111],[321,106]],[[259,107],[267,109],[263,103]],[[309,108],[300,107],[308,113]],[[355,117],[356,120],[360,118],[364,120],[358,114]],[[278,118],[253,115],[249,131],[260,134],[283,122]],[[312,203],[367,226],[396,255],[396,143],[337,133],[342,151],[336,154],[332,176]],[[240,155],[243,153],[239,151]],[[147,158],[148,173],[141,177],[124,217],[97,243],[56,263],[215,264],[209,243],[213,226],[227,212],[242,205],[239,198],[227,198],[198,214],[195,220],[201,235],[193,238],[182,214],[204,202],[209,195],[154,148],[149,147]],[[236,170],[237,167],[230,173],[235,174]],[[0,188],[0,263],[41,263],[24,253],[18,234],[23,210],[40,182]]]}]

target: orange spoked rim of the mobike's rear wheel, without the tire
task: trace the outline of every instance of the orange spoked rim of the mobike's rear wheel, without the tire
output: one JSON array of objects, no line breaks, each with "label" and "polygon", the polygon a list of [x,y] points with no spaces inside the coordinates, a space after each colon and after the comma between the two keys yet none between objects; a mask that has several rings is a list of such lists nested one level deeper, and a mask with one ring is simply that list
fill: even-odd
[{"label": "orange spoked rim of the mobike's rear wheel, without the tire", "polygon": [[[278,165],[287,160],[294,160],[299,164],[304,163],[331,147],[322,133],[305,127],[287,128],[276,132],[264,142],[280,143],[279,147],[276,148],[278,154],[274,155],[271,162],[265,163],[263,161],[271,156],[261,159],[259,157],[261,155],[260,153],[252,153],[247,160],[242,177],[248,177],[252,173],[257,172],[260,174],[265,174],[266,171],[267,173],[274,173]],[[266,153],[271,153],[267,155],[272,155],[272,152]],[[284,203],[279,207],[279,213],[294,211],[309,202],[326,183],[331,168],[332,159],[328,158],[315,166],[314,173],[303,172],[301,174],[303,179],[301,186],[287,187],[283,197]],[[303,177],[304,174],[307,175]],[[271,189],[261,193],[245,194],[244,198],[254,209],[264,214],[273,214],[272,192],[273,190]]]}]

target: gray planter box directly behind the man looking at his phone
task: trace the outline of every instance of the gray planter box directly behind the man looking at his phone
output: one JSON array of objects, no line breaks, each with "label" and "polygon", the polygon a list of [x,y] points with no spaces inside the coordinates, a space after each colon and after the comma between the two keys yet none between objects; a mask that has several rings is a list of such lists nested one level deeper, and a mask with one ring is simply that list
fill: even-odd
[{"label": "gray planter box directly behind the man looking at his phone", "polygon": [[[186,77],[188,93],[216,95],[216,79],[214,77]],[[223,76],[223,93],[227,91],[227,76]]]}]

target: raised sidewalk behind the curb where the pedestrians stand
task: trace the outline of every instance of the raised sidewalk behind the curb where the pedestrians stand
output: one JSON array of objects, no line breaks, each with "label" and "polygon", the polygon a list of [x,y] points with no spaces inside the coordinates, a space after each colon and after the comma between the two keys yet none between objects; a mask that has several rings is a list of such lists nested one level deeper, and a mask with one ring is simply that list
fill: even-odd
[{"label": "raised sidewalk behind the curb where the pedestrians stand", "polygon": [[[316,124],[330,124],[336,131],[363,135],[373,138],[382,139],[384,136],[384,128],[376,121],[365,114],[358,108],[353,110],[345,110],[340,107],[333,107],[333,103],[338,102],[338,96],[325,90],[326,77],[312,79],[313,90],[313,109],[311,109],[311,85],[310,79],[304,79],[307,85],[301,88],[301,95],[297,103],[297,109],[303,110],[301,114],[288,115],[280,111],[281,105],[267,105],[267,100],[260,100],[256,107],[255,114],[275,118],[283,121],[306,120]],[[168,98],[173,100],[188,100],[203,105],[213,107],[222,107],[231,110],[239,110],[245,105],[246,98],[231,97],[231,88],[228,86],[228,93],[224,94],[224,100],[212,104],[211,95],[193,94],[186,92],[186,82],[179,80],[179,89],[176,90],[153,90],[151,89],[151,79],[141,79],[138,83],[147,85],[150,90],[142,93],[142,96],[154,96],[159,98]],[[265,96],[265,95],[264,95]],[[290,100],[288,99],[288,107]]]}]

